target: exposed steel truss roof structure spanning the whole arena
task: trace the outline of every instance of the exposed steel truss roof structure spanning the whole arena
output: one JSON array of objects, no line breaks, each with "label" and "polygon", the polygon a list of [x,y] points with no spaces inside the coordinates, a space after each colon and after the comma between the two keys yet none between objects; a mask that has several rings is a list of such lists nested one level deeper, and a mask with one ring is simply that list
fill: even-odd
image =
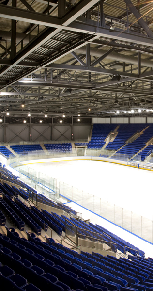
[{"label": "exposed steel truss roof structure spanning the whole arena", "polygon": [[151,116],[152,70],[152,0],[0,0],[1,116]]}]

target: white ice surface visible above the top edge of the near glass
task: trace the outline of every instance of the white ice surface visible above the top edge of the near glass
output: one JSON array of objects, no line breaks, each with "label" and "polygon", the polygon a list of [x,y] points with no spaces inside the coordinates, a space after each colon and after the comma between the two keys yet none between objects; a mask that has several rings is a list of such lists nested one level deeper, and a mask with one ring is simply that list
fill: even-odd
[{"label": "white ice surface visible above the top edge of the near glass", "polygon": [[33,161],[28,166],[102,201],[153,219],[153,172],[101,161]]}]

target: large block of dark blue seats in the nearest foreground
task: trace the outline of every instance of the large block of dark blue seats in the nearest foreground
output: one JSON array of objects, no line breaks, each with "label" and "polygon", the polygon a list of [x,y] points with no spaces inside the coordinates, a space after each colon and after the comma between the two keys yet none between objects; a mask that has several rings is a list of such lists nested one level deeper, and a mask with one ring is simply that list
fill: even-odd
[{"label": "large block of dark blue seats in the nearest foreground", "polygon": [[27,236],[20,238],[14,228],[7,228],[7,237],[0,234],[1,291],[153,290],[151,258],[79,254],[51,238]]}]

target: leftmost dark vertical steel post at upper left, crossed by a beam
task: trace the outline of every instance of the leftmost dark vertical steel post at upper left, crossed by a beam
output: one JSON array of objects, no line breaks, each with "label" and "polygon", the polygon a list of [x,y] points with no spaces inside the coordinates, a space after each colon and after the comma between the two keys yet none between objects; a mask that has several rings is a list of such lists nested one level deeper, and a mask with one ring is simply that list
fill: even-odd
[{"label": "leftmost dark vertical steel post at upper left, crossed by a beam", "polygon": [[[16,0],[12,0],[12,7],[16,7]],[[16,55],[16,20],[11,20],[11,60]]]}]

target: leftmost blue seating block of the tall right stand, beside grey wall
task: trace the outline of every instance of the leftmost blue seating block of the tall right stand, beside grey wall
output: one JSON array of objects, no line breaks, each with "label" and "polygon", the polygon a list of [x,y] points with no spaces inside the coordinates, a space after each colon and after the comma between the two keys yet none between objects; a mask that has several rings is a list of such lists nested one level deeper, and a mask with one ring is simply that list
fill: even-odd
[{"label": "leftmost blue seating block of the tall right stand, beside grey wall", "polygon": [[88,143],[88,148],[102,148],[105,145],[107,135],[114,131],[117,124],[98,124],[95,123],[92,129],[92,138]]}]

